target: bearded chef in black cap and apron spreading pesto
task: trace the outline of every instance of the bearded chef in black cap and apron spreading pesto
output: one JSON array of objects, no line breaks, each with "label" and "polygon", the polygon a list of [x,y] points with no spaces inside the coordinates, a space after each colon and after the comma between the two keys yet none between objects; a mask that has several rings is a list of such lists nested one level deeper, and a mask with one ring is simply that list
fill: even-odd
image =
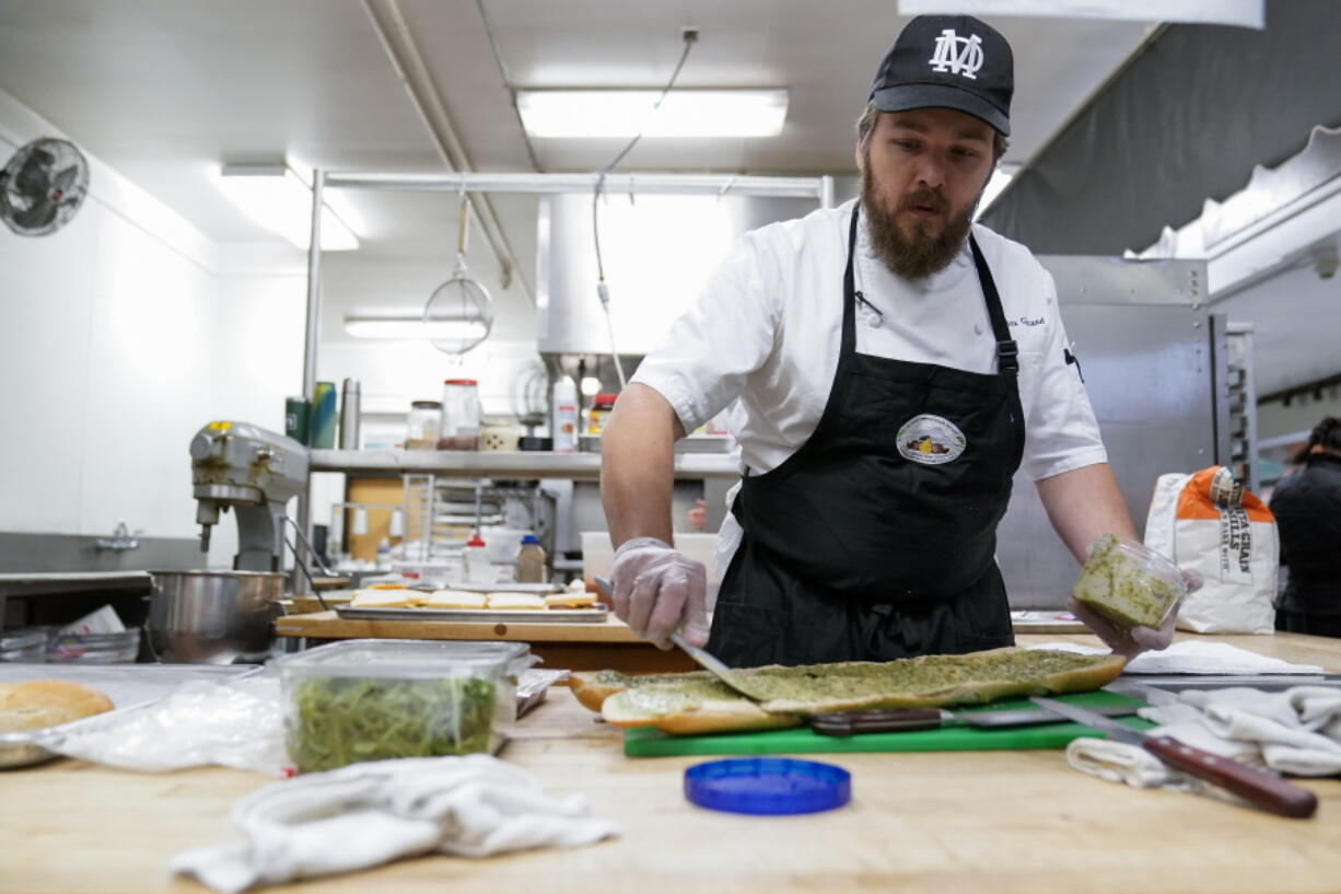
[{"label": "bearded chef in black cap and apron spreading pesto", "polygon": [[[1051,277],[972,216],[1010,134],[1011,48],[920,16],[857,125],[861,197],[747,234],[642,361],[602,439],[614,609],[736,667],[1012,644],[994,557],[1011,478],[1081,561],[1134,529]],[[735,401],[711,635],[670,546],[675,440]],[[1082,612],[1114,650],[1163,647]]]}]

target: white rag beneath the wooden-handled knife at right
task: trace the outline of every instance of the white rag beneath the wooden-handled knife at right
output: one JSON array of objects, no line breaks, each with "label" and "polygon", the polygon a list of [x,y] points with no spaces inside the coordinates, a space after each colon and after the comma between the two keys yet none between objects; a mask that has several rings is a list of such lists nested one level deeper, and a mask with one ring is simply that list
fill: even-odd
[{"label": "white rag beneath the wooden-handled knife at right", "polygon": [[[1160,724],[1152,736],[1169,736],[1193,748],[1266,766],[1291,776],[1341,773],[1341,690],[1295,686],[1283,693],[1235,687],[1189,690],[1140,715]],[[1200,789],[1204,784],[1165,766],[1140,748],[1098,738],[1077,738],[1066,760],[1078,771],[1137,788],[1167,785]]]}]

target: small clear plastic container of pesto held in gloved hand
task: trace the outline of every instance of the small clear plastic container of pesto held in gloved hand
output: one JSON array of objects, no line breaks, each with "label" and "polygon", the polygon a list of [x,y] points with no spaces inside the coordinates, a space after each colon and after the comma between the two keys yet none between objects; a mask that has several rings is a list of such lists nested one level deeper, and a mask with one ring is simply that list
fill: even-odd
[{"label": "small clear plastic container of pesto held in gloved hand", "polygon": [[1159,627],[1187,596],[1187,584],[1177,565],[1153,549],[1105,534],[1089,545],[1071,595],[1121,627]]}]

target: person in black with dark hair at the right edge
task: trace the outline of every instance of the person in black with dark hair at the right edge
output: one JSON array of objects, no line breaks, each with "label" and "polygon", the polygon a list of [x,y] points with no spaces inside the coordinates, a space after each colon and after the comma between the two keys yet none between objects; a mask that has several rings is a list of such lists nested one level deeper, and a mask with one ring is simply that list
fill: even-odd
[{"label": "person in black with dark hair at the right edge", "polygon": [[1318,423],[1293,462],[1303,470],[1277,485],[1270,502],[1289,569],[1275,628],[1341,636],[1341,419]]}]

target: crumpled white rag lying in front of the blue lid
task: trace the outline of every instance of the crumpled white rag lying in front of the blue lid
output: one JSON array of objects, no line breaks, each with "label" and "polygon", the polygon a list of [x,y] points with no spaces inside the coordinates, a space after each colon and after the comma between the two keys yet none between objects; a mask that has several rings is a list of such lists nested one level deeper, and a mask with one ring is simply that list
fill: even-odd
[{"label": "crumpled white rag lying in front of the blue lid", "polygon": [[417,854],[488,856],[618,835],[581,795],[557,799],[487,754],[351,764],[252,792],[233,807],[244,842],[178,854],[174,873],[216,891],[335,875]]}]

